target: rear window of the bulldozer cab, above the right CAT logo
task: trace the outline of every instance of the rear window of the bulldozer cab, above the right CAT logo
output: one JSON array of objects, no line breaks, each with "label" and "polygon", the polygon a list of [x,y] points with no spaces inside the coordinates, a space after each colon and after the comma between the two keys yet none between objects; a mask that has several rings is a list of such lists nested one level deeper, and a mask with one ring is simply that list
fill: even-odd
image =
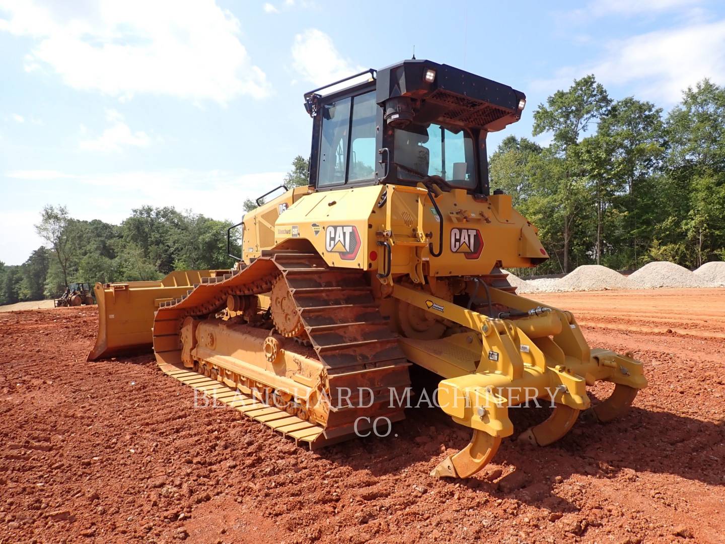
[{"label": "rear window of the bulldozer cab, above the right CAT logo", "polygon": [[440,176],[452,187],[476,188],[473,139],[463,129],[456,133],[435,123],[397,128],[393,160],[401,181]]}]

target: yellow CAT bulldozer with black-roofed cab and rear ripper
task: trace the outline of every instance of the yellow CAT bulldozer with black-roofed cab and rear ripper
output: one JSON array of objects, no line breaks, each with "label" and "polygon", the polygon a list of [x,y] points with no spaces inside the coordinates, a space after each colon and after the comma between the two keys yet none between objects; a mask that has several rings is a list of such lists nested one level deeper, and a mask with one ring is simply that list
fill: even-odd
[{"label": "yellow CAT bulldozer with black-roofed cab and rear ripper", "polygon": [[[438,477],[481,470],[513,434],[513,406],[552,406],[519,435],[540,446],[581,411],[621,415],[647,384],[642,364],[591,350],[571,313],[518,296],[502,271],[548,258],[511,197],[489,191],[486,135],[525,105],[421,59],[310,91],[309,186],[244,215],[228,271],[97,284],[89,357],[152,344],[166,374],[311,448],[404,419],[421,366],[472,431]],[[613,393],[592,406],[600,380]]]}]

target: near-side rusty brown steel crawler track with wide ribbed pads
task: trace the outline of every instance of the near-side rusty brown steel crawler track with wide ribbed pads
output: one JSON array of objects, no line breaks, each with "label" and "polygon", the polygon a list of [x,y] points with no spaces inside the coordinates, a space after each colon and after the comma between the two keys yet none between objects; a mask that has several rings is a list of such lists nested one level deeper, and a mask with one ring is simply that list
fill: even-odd
[{"label": "near-side rusty brown steel crawler track with wide ribbed pads", "polygon": [[[295,416],[263,404],[260,408],[266,411],[260,409],[247,415],[296,441],[308,442],[312,448],[355,437],[355,421],[360,417],[369,418],[369,422],[360,420],[358,430],[368,429],[380,416],[390,421],[403,419],[402,408],[391,404],[391,394],[394,391],[397,398],[402,398],[410,385],[410,363],[398,345],[397,334],[378,310],[365,272],[328,267],[312,253],[263,252],[240,271],[204,278],[183,297],[162,302],[154,319],[154,352],[162,371],[178,379],[183,377],[181,381],[192,387],[194,383],[204,384],[210,391],[217,389],[216,384],[226,387],[221,382],[208,382],[209,378],[183,366],[181,323],[187,316],[204,317],[222,310],[229,294],[268,293],[281,275],[291,290],[312,347],[326,367],[333,407],[324,429],[301,419],[292,421]],[[358,387],[363,387],[363,397],[357,394]],[[371,405],[357,408],[360,403]],[[298,432],[303,424],[304,432]],[[286,432],[287,425],[290,432]]]}]

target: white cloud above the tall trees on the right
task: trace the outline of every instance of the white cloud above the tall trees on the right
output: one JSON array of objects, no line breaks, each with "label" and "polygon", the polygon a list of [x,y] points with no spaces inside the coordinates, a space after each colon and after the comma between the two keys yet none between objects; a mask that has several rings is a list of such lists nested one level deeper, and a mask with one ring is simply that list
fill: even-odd
[{"label": "white cloud above the tall trees on the right", "polygon": [[725,20],[610,41],[599,62],[563,67],[555,78],[535,81],[532,88],[568,88],[573,78],[587,73],[605,86],[630,85],[637,96],[674,104],[703,78],[725,83]]}]

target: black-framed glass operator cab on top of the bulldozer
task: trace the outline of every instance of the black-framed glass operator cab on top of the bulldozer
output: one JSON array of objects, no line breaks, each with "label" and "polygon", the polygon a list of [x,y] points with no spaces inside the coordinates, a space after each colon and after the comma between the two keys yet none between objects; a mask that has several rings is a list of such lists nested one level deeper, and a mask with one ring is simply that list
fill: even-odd
[{"label": "black-framed glass operator cab on top of the bulldozer", "polygon": [[525,105],[520,91],[428,60],[336,81],[305,94],[310,185],[423,182],[488,195],[486,134],[515,123]]}]

